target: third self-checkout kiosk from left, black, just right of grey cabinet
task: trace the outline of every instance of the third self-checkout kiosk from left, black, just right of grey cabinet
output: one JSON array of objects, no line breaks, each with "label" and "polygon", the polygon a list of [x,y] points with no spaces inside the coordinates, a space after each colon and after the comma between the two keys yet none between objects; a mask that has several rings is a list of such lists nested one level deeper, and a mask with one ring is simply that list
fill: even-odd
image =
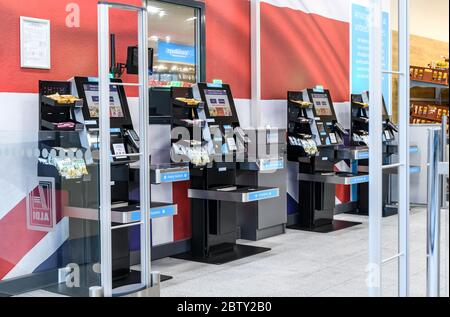
[{"label": "third self-checkout kiosk from left, black, just right of grey cabinet", "polygon": [[334,219],[356,208],[336,203],[336,185],[369,181],[365,173],[336,171],[338,162],[361,155],[360,149],[344,145],[346,137],[328,90],[288,92],[288,160],[298,163],[299,192],[298,212],[288,228],[331,232],[358,224]]}]

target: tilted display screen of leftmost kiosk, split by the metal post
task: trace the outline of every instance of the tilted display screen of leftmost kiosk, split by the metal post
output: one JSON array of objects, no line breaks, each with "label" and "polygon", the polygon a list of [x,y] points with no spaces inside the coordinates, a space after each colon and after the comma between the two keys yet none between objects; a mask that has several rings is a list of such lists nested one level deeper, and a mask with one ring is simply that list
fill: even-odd
[{"label": "tilted display screen of leftmost kiosk, split by the metal post", "polygon": [[[99,95],[98,84],[84,84],[86,102],[89,108],[91,118],[99,116]],[[124,118],[122,104],[120,102],[119,90],[117,86],[111,85],[109,97],[109,115],[111,118]]]}]

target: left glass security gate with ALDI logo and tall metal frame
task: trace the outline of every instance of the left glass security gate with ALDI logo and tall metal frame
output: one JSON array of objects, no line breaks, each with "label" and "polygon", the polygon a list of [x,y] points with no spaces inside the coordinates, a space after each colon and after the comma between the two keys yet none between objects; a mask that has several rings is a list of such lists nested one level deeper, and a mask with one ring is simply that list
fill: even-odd
[{"label": "left glass security gate with ALDI logo and tall metal frame", "polygon": [[[135,158],[134,171],[139,168],[140,201],[132,212],[112,205],[111,9],[138,16],[139,81],[114,81],[115,89],[139,88],[139,153],[121,154]],[[99,71],[98,79],[90,79],[98,85],[98,129],[87,129],[82,99],[59,103],[48,97],[76,95],[74,79],[39,82],[39,129],[26,122],[23,130],[0,131],[0,164],[8,167],[0,175],[0,296],[159,295],[159,274],[150,270],[147,23],[146,6],[98,3]],[[73,129],[58,125],[69,120]],[[118,232],[128,235],[132,228],[140,231],[140,271],[119,254],[121,268],[133,273],[119,279],[115,250],[129,246]]]}]

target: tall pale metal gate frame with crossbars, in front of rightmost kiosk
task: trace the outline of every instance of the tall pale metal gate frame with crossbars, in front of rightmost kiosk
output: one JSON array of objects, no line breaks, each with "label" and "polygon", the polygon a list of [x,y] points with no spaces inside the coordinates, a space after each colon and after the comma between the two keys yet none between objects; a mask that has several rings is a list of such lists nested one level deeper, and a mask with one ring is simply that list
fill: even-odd
[{"label": "tall pale metal gate frame with crossbars, in front of rightmost kiosk", "polygon": [[[409,77],[409,0],[398,0],[399,18],[399,71],[383,70],[382,47],[382,1],[370,0],[370,100],[374,103],[370,118],[370,166],[369,166],[369,295],[382,295],[382,267],[398,260],[398,295],[409,296],[409,220],[410,220],[410,77]],[[399,163],[383,165],[382,140],[382,74],[399,76]],[[383,169],[398,169],[398,254],[382,258],[382,191]]]}]

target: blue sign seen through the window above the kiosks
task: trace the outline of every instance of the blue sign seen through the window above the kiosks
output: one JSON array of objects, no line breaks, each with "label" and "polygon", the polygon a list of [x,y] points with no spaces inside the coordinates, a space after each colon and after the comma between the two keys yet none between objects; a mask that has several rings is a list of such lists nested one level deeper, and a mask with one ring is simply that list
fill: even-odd
[{"label": "blue sign seen through the window above the kiosks", "polygon": [[195,47],[160,41],[158,42],[158,60],[195,65]]}]

